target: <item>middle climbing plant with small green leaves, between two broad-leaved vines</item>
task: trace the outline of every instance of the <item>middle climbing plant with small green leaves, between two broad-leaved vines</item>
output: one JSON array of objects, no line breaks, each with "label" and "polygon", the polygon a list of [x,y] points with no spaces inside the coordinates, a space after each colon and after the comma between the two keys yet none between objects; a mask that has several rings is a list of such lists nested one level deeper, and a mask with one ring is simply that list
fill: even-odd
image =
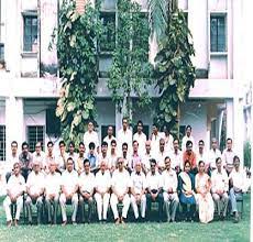
[{"label": "middle climbing plant with small green leaves, between two broad-leaved vines", "polygon": [[117,11],[116,48],[108,88],[119,110],[123,108],[123,114],[130,117],[132,95],[139,98],[141,107],[151,103],[147,89],[151,84],[150,28],[147,16],[141,13],[136,2],[118,0]]}]

